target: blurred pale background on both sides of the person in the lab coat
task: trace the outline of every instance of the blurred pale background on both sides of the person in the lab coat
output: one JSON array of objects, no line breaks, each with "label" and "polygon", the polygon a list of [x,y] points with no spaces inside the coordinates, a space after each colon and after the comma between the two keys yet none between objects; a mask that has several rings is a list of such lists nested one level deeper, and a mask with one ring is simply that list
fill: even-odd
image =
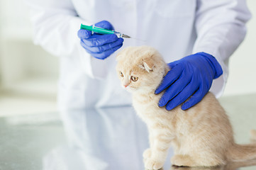
[{"label": "blurred pale background on both sides of the person in the lab coat", "polygon": [[[256,1],[247,0],[252,16]],[[224,96],[256,94],[256,18],[230,58]],[[0,116],[57,112],[58,58],[33,45],[29,11],[21,0],[0,0]]]}]

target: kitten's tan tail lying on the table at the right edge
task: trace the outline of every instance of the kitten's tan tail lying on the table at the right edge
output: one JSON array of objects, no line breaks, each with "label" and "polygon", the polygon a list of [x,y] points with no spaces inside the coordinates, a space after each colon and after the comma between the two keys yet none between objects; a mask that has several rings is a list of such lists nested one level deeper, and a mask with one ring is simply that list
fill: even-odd
[{"label": "kitten's tan tail lying on the table at the right edge", "polygon": [[233,144],[228,150],[228,161],[230,162],[246,162],[256,160],[256,130],[250,131],[251,144],[238,145]]}]

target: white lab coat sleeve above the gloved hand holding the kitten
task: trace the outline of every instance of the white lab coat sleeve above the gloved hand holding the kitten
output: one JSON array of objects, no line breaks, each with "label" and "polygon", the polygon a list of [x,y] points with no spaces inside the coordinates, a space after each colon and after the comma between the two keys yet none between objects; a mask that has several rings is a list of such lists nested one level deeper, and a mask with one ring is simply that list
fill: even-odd
[{"label": "white lab coat sleeve above the gloved hand holding the kitten", "polygon": [[223,75],[213,80],[210,91],[221,96],[228,79],[228,58],[245,38],[250,19],[245,0],[198,0],[193,53],[207,52],[221,64]]}]

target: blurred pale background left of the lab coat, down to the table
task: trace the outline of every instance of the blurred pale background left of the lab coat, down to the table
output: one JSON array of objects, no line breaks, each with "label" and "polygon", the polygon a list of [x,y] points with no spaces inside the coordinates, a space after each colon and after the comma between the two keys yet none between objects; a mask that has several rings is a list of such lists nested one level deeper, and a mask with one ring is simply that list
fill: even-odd
[{"label": "blurred pale background left of the lab coat, down to the table", "polygon": [[56,111],[58,58],[33,45],[21,0],[0,0],[0,116]]}]

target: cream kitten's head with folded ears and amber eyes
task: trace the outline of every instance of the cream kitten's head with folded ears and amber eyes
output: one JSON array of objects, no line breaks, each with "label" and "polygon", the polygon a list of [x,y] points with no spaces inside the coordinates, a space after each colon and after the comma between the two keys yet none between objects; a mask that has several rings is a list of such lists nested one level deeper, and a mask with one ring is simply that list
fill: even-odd
[{"label": "cream kitten's head with folded ears and amber eyes", "polygon": [[126,47],[116,56],[116,72],[127,91],[155,91],[168,71],[157,50],[148,46]]}]

